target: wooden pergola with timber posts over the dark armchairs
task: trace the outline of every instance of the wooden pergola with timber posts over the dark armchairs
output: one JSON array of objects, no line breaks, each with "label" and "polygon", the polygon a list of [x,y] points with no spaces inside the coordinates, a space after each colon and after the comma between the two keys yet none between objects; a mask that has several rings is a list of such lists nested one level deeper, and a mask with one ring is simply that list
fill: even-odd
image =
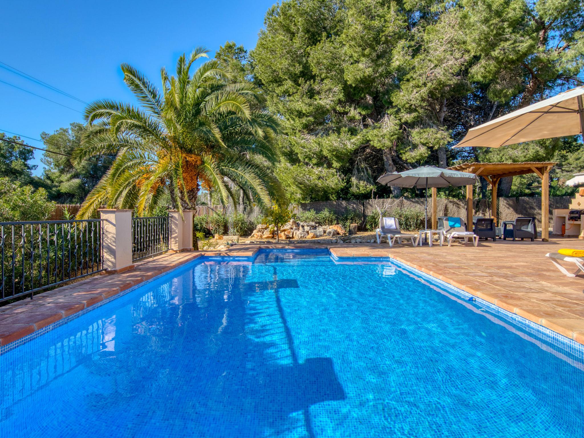
[{"label": "wooden pergola with timber posts over the dark armchairs", "polygon": [[[482,176],[491,185],[491,214],[497,217],[497,186],[501,178],[506,176],[526,175],[535,173],[541,178],[541,223],[550,221],[550,169],[555,162],[524,162],[524,163],[464,163],[449,169],[460,172],[474,173]],[[472,230],[472,192],[474,186],[467,186],[467,227]],[[436,188],[432,189],[432,228],[437,227]],[[548,226],[541,226],[541,240],[549,240]]]}]

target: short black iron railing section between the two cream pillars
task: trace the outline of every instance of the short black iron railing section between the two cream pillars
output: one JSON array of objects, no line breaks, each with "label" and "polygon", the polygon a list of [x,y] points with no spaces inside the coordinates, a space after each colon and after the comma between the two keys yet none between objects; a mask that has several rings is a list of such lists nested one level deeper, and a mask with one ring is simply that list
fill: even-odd
[{"label": "short black iron railing section between the two cream pillars", "polygon": [[168,216],[132,218],[132,260],[162,254],[170,248],[171,220]]}]

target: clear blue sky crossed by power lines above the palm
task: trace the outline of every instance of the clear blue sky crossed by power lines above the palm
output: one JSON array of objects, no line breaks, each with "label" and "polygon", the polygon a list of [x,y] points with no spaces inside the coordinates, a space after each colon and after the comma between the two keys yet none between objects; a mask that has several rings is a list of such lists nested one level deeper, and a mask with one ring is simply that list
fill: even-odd
[{"label": "clear blue sky crossed by power lines above the palm", "polygon": [[[250,50],[275,0],[254,1],[12,1],[3,2],[0,61],[85,102],[133,102],[122,82],[121,62],[160,85],[160,68],[195,46],[213,55],[225,41]],[[0,64],[2,65],[2,64]],[[84,104],[0,68],[0,81],[82,111]],[[72,121],[74,110],[0,82],[0,131],[40,138]],[[11,135],[11,134],[9,134]],[[24,138],[33,146],[38,141]],[[36,151],[34,164],[39,165]]]}]

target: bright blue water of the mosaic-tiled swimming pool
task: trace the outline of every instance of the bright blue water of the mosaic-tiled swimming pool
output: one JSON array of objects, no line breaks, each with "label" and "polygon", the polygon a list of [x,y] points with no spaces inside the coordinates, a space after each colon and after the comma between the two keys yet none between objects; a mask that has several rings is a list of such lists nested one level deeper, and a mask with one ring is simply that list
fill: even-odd
[{"label": "bright blue water of the mosaic-tiled swimming pool", "polygon": [[389,260],[183,266],[0,356],[2,437],[580,437],[583,350]]}]

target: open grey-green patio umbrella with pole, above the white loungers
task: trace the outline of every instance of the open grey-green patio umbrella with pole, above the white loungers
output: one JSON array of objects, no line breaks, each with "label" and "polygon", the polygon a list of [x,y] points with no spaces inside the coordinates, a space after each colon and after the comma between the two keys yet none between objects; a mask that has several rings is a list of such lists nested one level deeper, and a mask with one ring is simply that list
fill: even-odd
[{"label": "open grey-green patio umbrella with pole, above the white loungers", "polygon": [[426,189],[425,222],[428,228],[428,187],[469,186],[477,180],[474,173],[450,171],[436,166],[421,166],[404,172],[381,175],[377,182],[388,186],[416,187]]}]

